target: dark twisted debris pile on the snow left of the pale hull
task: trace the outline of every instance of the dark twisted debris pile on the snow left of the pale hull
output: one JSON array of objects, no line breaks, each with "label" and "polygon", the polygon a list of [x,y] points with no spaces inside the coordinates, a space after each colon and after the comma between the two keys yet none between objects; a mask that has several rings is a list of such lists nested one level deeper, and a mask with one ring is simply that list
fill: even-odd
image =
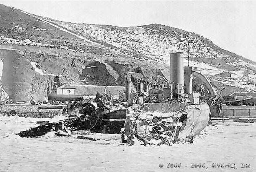
[{"label": "dark twisted debris pile on the snow left of the pale hull", "polygon": [[[54,123],[44,121],[44,123],[38,123],[39,126],[22,131],[18,135],[20,137],[38,137],[48,132],[54,132],[55,136],[70,136],[73,131],[77,130],[110,134],[120,133],[126,118],[126,111],[110,112],[110,109],[97,99],[75,101],[68,106],[67,113],[68,118],[62,121]],[[119,119],[115,120],[115,118]]]}]

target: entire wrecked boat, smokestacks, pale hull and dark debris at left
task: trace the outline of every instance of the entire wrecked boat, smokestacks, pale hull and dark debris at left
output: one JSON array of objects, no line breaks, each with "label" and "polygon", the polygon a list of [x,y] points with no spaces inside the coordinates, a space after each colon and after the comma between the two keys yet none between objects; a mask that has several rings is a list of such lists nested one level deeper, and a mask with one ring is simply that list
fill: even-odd
[{"label": "entire wrecked boat, smokestacks, pale hull and dark debris at left", "polygon": [[[45,121],[18,135],[38,137],[52,132],[53,135],[71,136],[75,131],[89,130],[121,133],[121,142],[129,146],[136,140],[145,146],[172,145],[184,140],[192,143],[194,135],[207,126],[210,118],[204,91],[210,84],[206,79],[201,82],[204,84],[193,85],[193,68],[183,67],[182,53],[170,53],[170,83],[165,87],[149,89],[146,83],[143,89],[140,83],[139,91],[132,93],[131,81],[127,80],[125,93],[120,94],[117,106],[109,104],[110,101],[107,105],[104,95],[97,93],[95,99],[69,104],[66,119],[54,123]],[[97,140],[87,136],[77,138]]]}]

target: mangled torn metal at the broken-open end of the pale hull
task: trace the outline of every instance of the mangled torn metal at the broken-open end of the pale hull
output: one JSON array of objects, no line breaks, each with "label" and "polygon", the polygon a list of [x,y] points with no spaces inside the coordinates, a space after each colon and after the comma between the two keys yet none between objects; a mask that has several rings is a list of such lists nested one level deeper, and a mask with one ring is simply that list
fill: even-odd
[{"label": "mangled torn metal at the broken-open end of the pale hull", "polygon": [[168,146],[175,143],[186,125],[187,114],[179,112],[135,112],[126,117],[124,128],[121,129],[121,139],[129,146],[137,138],[143,145]]}]

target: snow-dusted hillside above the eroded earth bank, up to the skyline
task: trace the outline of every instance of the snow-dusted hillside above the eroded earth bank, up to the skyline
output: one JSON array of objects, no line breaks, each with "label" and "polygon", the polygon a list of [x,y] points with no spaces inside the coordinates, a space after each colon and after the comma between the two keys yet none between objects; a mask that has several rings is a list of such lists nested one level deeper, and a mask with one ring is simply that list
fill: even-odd
[{"label": "snow-dusted hillside above the eroded earth bank, up to the skyline", "polygon": [[[83,60],[104,62],[107,59],[138,66],[144,64],[161,68],[163,73],[168,73],[169,53],[183,52],[184,65],[188,66],[189,56],[189,65],[205,75],[216,90],[223,87],[228,93],[256,90],[255,62],[223,50],[196,33],[161,24],[137,27],[77,24],[36,16],[4,5],[0,5],[0,9],[0,46],[29,46],[35,49],[35,54],[40,47],[45,52],[40,52],[38,57],[46,54],[52,60],[55,57],[77,59],[81,63]],[[68,73],[71,70],[60,66],[47,68],[42,60],[33,62],[45,67],[41,68],[43,73]],[[72,65],[67,64],[67,67]],[[71,73],[80,70],[74,68]],[[215,76],[222,72],[231,73],[231,77]],[[72,80],[71,76],[68,78]]]}]

